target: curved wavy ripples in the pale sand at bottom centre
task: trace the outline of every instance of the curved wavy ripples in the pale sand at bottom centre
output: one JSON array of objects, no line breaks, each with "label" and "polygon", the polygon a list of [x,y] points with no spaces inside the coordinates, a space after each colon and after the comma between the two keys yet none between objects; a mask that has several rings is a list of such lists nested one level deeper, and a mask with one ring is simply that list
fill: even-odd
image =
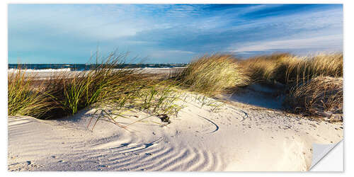
[{"label": "curved wavy ripples in the pale sand at bottom centre", "polygon": [[[153,142],[121,143],[94,151],[77,151],[70,154],[70,166],[89,161],[84,171],[221,171],[222,163],[217,154],[194,147],[182,147],[160,137]],[[164,144],[166,146],[164,146]],[[70,171],[70,169],[67,169]]]}]

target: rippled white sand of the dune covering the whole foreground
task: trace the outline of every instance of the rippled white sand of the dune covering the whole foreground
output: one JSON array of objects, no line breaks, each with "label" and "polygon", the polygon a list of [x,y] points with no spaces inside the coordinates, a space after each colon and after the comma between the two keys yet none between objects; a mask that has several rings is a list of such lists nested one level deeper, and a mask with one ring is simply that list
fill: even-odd
[{"label": "rippled white sand of the dune covering the whole foreground", "polygon": [[[9,171],[307,171],[312,143],[343,139],[342,123],[317,122],[242,103],[219,112],[188,99],[171,124],[150,117],[127,127],[94,110],[62,120],[8,118]],[[146,118],[129,113],[121,125]],[[137,116],[138,118],[136,118]],[[94,122],[94,121],[93,121]]]}]

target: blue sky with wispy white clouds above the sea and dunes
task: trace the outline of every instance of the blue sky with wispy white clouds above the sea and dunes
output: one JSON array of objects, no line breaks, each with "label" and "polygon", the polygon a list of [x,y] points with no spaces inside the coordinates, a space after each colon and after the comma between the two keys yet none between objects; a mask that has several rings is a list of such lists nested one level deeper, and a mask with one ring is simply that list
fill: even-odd
[{"label": "blue sky with wispy white clouds above the sea and dunes", "polygon": [[146,63],[188,63],[215,52],[342,52],[343,5],[8,5],[8,63],[85,64],[96,51],[129,52]]}]

